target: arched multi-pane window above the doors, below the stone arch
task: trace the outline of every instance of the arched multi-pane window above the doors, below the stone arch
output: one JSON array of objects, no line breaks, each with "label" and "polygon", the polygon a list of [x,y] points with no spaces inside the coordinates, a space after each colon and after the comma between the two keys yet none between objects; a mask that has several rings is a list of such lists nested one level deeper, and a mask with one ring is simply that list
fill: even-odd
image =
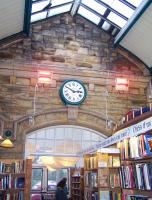
[{"label": "arched multi-pane window above the doors, below the stone arch", "polygon": [[26,135],[25,156],[69,156],[102,141],[97,131],[73,125],[51,126]]}]

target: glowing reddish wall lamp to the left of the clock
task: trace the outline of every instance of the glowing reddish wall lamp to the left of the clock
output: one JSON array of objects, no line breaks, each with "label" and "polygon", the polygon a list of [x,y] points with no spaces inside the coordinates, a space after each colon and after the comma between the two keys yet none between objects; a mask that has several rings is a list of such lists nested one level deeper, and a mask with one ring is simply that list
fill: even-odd
[{"label": "glowing reddish wall lamp to the left of the clock", "polygon": [[51,84],[53,73],[51,71],[38,71],[38,83]]}]

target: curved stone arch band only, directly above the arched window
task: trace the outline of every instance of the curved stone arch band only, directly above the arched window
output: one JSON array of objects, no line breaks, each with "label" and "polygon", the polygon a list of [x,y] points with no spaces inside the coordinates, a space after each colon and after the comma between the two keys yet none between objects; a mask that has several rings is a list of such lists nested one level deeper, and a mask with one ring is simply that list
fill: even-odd
[{"label": "curved stone arch band only, directly above the arched window", "polygon": [[29,117],[24,117],[15,122],[16,124],[16,134],[20,132],[24,135],[41,128],[56,126],[56,125],[76,125],[85,128],[90,128],[92,130],[101,132],[106,136],[110,136],[111,132],[106,130],[106,117],[105,115],[98,112],[90,112],[89,110],[78,110],[78,117],[76,120],[68,119],[68,109],[55,109],[52,111],[47,111],[39,113],[34,117],[34,124],[29,124]]}]

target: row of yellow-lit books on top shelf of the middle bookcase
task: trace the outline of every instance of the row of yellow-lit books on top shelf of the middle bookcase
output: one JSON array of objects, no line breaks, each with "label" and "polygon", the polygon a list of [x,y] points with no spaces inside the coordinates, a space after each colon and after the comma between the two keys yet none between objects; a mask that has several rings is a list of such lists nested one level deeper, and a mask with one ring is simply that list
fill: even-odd
[{"label": "row of yellow-lit books on top shelf of the middle bookcase", "polygon": [[97,153],[97,155],[84,157],[85,170],[97,169],[100,167],[119,167],[120,158],[116,155],[108,155],[108,153]]}]

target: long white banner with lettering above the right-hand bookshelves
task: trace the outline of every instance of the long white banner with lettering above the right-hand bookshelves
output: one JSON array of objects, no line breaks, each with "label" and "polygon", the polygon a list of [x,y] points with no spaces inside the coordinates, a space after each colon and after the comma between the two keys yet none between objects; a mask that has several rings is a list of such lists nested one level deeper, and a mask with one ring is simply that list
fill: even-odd
[{"label": "long white banner with lettering above the right-hand bookshelves", "polygon": [[152,130],[152,117],[149,117],[137,124],[124,128],[122,130],[117,131],[113,136],[105,139],[102,142],[93,145],[84,151],[80,152],[80,154],[86,154],[97,151],[99,148],[107,147],[112,144],[115,144],[125,138],[138,136],[140,134],[146,133]]}]

